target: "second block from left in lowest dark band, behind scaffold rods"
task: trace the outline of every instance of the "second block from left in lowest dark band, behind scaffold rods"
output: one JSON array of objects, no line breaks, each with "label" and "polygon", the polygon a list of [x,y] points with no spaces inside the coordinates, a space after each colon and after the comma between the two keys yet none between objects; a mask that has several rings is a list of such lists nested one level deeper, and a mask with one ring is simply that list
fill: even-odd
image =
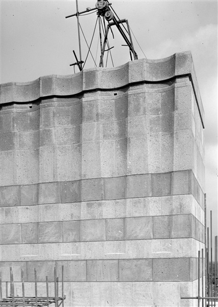
[{"label": "second block from left in lowest dark band, behind scaffold rods", "polygon": [[54,268],[55,261],[27,261],[27,280],[35,281],[34,269],[36,269],[37,281],[45,281],[47,276],[49,281],[54,282]]}]

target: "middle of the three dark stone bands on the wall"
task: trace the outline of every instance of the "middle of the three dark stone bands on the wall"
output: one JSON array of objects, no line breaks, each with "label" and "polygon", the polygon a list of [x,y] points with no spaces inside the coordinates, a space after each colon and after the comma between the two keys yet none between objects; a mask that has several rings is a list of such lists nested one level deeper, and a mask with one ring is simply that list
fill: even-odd
[{"label": "middle of the three dark stone bands on the wall", "polygon": [[[99,242],[160,238],[194,238],[204,242],[204,226],[192,214],[139,216],[4,224],[1,244]],[[7,235],[10,233],[10,235]]]}]

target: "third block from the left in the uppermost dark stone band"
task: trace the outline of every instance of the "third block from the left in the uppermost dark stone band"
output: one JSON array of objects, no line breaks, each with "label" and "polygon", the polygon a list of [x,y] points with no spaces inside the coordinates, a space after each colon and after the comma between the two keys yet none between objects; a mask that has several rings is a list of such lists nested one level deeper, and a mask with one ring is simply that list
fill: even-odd
[{"label": "third block from the left in the uppermost dark stone band", "polygon": [[40,183],[39,184],[39,204],[61,203],[60,183]]}]

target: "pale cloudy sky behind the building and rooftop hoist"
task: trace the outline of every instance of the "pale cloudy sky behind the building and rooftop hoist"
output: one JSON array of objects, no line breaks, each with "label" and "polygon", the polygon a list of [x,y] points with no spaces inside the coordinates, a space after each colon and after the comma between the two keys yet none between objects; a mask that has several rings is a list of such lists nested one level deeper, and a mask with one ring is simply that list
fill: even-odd
[{"label": "pale cloudy sky behind the building and rooftop hoist", "polygon": [[[74,74],[72,50],[79,58],[75,1],[1,0],[0,83],[28,82],[45,75]],[[78,0],[79,11],[96,1]],[[128,19],[138,58],[159,59],[190,50],[205,110],[205,167],[207,216],[213,213],[217,235],[217,1],[111,0],[119,19]],[[80,16],[81,28],[99,65],[99,31],[96,13]],[[110,33],[108,67],[130,60],[128,47],[116,29]],[[88,47],[81,33],[82,60]],[[142,52],[142,51],[143,52]],[[106,57],[105,57],[106,61]],[[93,68],[89,55],[86,68]],[[78,68],[75,68],[78,72]],[[209,226],[209,220],[207,220]]]}]

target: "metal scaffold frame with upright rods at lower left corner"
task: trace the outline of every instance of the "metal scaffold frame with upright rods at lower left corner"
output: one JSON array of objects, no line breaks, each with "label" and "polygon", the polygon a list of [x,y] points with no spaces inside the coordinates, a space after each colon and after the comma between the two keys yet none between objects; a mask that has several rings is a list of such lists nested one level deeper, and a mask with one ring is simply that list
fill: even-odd
[{"label": "metal scaffold frame with upright rods at lower left corner", "polygon": [[64,299],[64,267],[61,268],[61,296],[58,294],[59,281],[57,277],[56,268],[54,268],[54,296],[49,294],[49,278],[46,276],[46,296],[38,296],[37,294],[37,271],[34,269],[34,283],[35,283],[35,296],[25,296],[25,281],[23,277],[23,270],[21,269],[21,283],[22,283],[22,296],[15,296],[14,293],[14,276],[12,267],[10,267],[10,295],[8,295],[8,281],[6,281],[6,297],[2,297],[2,274],[0,272],[0,306],[3,307],[43,307],[55,304],[55,307],[63,306]]}]

